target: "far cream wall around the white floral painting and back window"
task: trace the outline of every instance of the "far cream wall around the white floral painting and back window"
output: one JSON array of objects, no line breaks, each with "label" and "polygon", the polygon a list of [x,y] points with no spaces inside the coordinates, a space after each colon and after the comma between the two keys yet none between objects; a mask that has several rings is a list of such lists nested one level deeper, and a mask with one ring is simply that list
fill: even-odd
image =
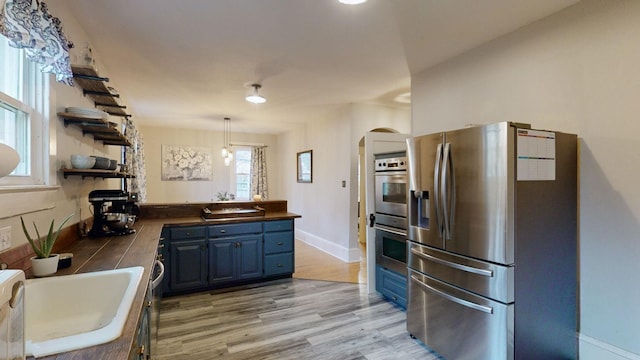
[{"label": "far cream wall around the white floral painting and back window", "polygon": [[[232,125],[233,126],[233,125]],[[224,166],[220,149],[223,134],[220,131],[202,129],[167,128],[139,125],[144,139],[144,155],[147,171],[147,202],[148,203],[185,203],[216,201],[218,192],[232,192],[232,167]],[[220,123],[222,129],[222,123]],[[279,169],[275,154],[277,153],[277,138],[275,135],[264,134],[230,134],[231,143],[251,143],[267,145],[267,184],[269,199],[278,200],[280,181]],[[161,148],[162,145],[185,145],[207,147],[213,156],[212,181],[163,181],[161,178]]]}]

